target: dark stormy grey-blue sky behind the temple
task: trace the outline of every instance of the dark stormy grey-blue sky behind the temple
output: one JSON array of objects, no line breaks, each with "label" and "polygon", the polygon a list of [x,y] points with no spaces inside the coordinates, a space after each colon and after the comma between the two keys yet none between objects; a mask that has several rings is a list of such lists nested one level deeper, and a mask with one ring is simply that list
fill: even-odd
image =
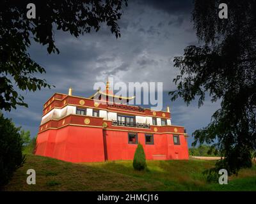
[{"label": "dark stormy grey-blue sky behind the temple", "polygon": [[[23,92],[29,108],[18,107],[10,113],[17,126],[35,136],[42,117],[43,104],[54,92],[68,92],[88,97],[93,94],[95,82],[114,77],[115,82],[163,82],[164,108],[169,105],[172,123],[185,126],[189,135],[206,126],[220,103],[209,100],[198,109],[197,101],[186,106],[182,99],[170,101],[168,91],[175,89],[172,80],[177,75],[173,57],[183,54],[188,45],[196,45],[191,23],[191,1],[128,1],[118,22],[121,38],[116,40],[109,28],[75,38],[68,33],[55,31],[60,54],[47,54],[46,47],[33,43],[31,57],[44,66],[43,77],[55,88],[38,92]],[[193,138],[188,139],[189,147]]]}]

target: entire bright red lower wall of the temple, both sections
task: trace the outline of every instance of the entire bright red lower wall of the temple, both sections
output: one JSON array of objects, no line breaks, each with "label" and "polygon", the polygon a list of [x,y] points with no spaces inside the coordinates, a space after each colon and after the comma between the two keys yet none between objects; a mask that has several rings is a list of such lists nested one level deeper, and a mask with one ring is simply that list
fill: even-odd
[{"label": "entire bright red lower wall of the temple, both sections", "polygon": [[[146,159],[188,159],[188,143],[180,135],[180,145],[172,134],[154,134],[154,144],[145,144],[145,133],[138,133]],[[38,133],[37,155],[74,163],[133,159],[136,144],[128,143],[127,131],[66,126]]]}]

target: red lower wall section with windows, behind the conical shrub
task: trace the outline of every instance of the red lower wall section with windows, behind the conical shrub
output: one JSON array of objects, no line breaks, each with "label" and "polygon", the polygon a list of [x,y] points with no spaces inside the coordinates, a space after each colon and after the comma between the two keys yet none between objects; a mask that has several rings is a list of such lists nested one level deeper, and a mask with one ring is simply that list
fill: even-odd
[{"label": "red lower wall section with windows, behind the conical shrub", "polygon": [[[171,134],[154,134],[154,144],[145,144],[145,133],[138,133],[138,142],[143,145],[146,159],[188,159],[186,138],[180,135],[180,145],[173,144]],[[108,160],[133,159],[136,144],[128,143],[125,131],[106,131]]]}]

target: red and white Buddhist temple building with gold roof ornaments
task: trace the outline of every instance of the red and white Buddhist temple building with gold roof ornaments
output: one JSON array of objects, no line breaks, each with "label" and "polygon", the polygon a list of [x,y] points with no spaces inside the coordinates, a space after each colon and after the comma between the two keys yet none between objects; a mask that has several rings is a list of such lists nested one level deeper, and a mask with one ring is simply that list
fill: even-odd
[{"label": "red and white Buddhist temple building with gold roof ornaments", "polygon": [[113,98],[128,103],[134,97],[115,96],[108,83],[89,98],[72,96],[71,88],[53,94],[44,104],[35,154],[74,163],[125,160],[141,143],[146,159],[189,158],[186,131],[172,125],[169,108],[154,111]]}]

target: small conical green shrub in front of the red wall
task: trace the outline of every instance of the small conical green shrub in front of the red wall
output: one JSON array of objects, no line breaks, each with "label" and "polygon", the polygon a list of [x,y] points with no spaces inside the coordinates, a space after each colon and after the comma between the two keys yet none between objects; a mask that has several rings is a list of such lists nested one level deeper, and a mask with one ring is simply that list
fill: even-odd
[{"label": "small conical green shrub in front of the red wall", "polygon": [[144,170],[147,167],[145,152],[140,143],[136,148],[132,165],[134,170],[138,170],[138,171]]}]

